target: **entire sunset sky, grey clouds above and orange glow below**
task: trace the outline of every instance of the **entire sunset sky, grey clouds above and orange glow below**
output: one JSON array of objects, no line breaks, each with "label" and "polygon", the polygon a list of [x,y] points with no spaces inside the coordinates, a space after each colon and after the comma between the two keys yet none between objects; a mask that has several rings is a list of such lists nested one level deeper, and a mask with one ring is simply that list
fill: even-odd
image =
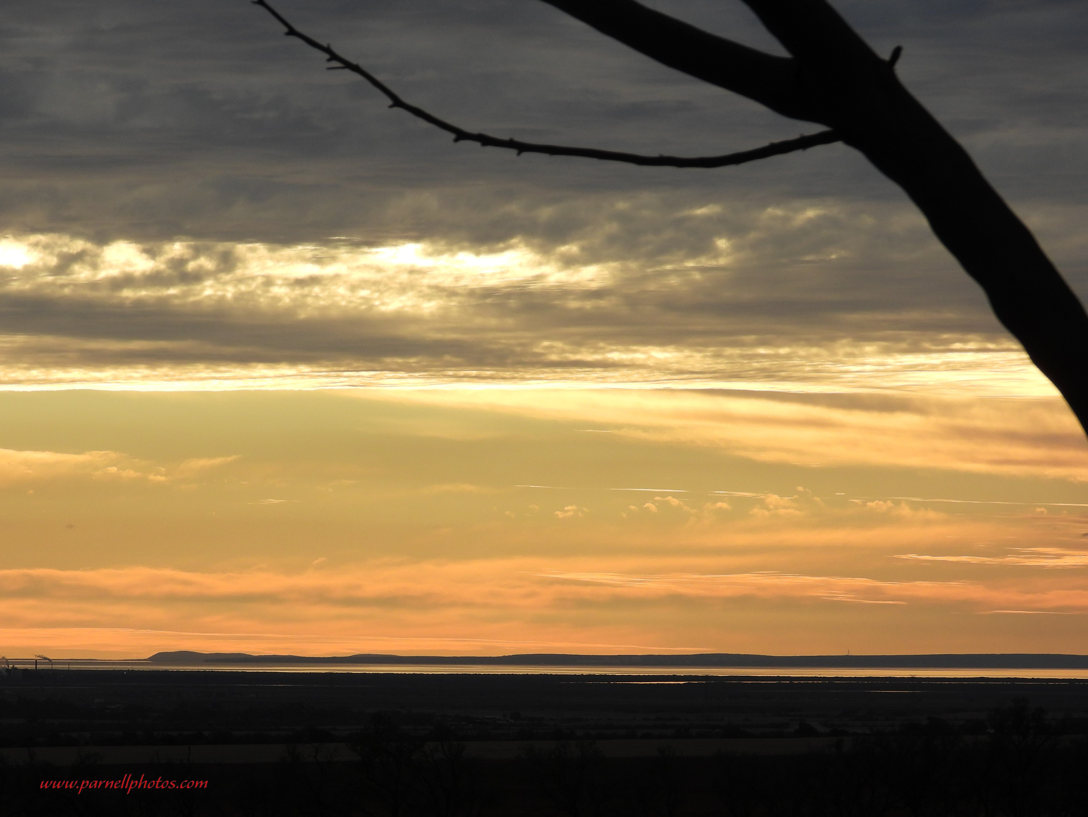
[{"label": "entire sunset sky, grey clouds above and orange glow below", "polygon": [[[1079,0],[834,4],[1088,296]],[[471,131],[814,132],[539,0],[276,8]],[[516,157],[245,0],[5,11],[9,657],[1088,648],[1084,433],[850,148]]]}]

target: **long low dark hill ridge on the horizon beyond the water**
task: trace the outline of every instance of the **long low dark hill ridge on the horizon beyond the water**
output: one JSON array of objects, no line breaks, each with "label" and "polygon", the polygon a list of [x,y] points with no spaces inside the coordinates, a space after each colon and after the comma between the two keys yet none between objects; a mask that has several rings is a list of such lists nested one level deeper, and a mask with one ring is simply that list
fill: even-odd
[{"label": "long low dark hill ridge on the horizon beyond the water", "polygon": [[1047,653],[979,653],[936,655],[744,655],[696,653],[693,655],[566,655],[530,653],[499,656],[380,655],[359,653],[341,656],[249,655],[248,653],[194,653],[180,649],[156,653],[152,664],[386,664],[468,665],[480,667],[751,667],[848,669],[1088,669],[1088,655]]}]

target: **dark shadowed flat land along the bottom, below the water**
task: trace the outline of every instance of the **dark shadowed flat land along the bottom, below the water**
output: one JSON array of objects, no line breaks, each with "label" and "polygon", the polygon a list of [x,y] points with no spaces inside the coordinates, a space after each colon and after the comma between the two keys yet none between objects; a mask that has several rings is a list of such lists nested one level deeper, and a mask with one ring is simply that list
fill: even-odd
[{"label": "dark shadowed flat land along the bottom, below the water", "polygon": [[1088,815],[1077,680],[15,670],[0,746],[3,815]]}]

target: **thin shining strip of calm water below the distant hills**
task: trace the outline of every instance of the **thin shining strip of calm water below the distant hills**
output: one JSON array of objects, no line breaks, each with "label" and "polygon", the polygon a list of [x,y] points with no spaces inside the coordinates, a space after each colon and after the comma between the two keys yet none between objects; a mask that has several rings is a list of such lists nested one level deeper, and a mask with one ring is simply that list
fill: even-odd
[{"label": "thin shining strip of calm water below the distant hills", "polygon": [[[18,667],[33,667],[25,658],[12,660]],[[1027,678],[1088,679],[1088,669],[948,669],[917,668],[867,669],[852,667],[507,667],[475,664],[150,664],[148,661],[54,661],[57,669],[133,669],[133,670],[244,670],[247,672],[378,672],[407,674],[517,674],[517,676],[747,676],[779,678]],[[46,661],[39,669],[48,670]]]}]

